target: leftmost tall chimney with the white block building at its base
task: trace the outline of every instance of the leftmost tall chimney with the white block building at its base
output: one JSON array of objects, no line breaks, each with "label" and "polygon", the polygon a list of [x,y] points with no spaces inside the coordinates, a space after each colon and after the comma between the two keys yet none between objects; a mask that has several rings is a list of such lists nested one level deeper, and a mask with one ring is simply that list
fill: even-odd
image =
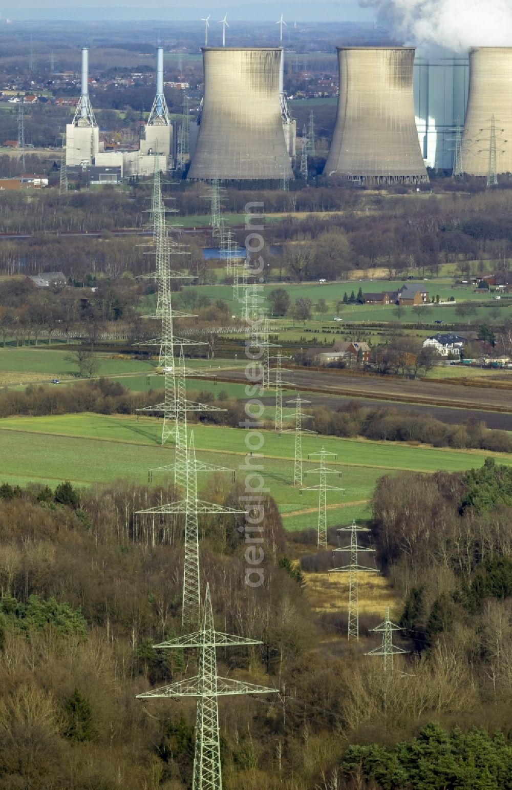
[{"label": "leftmost tall chimney with the white block building at its base", "polygon": [[88,48],[82,50],[82,87],[73,122],[65,127],[65,164],[93,164],[100,150],[99,128],[89,99]]}]

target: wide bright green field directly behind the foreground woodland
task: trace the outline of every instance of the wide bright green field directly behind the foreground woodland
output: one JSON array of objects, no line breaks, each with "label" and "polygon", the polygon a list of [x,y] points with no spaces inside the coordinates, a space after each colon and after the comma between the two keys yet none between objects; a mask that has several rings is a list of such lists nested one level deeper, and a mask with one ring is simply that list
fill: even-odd
[{"label": "wide bright green field directly behind the foreground woodland", "polygon": [[[245,431],[236,428],[193,426],[197,455],[204,460],[237,469],[245,456]],[[10,483],[38,481],[55,485],[71,479],[77,485],[98,485],[121,478],[147,481],[149,468],[174,461],[172,444],[159,446],[161,423],[158,419],[134,419],[92,414],[21,417],[0,422],[0,480]],[[301,495],[293,480],[293,434],[278,436],[264,431],[263,476],[278,502],[286,529],[304,529],[316,524],[317,493]],[[341,472],[335,485],[346,488],[346,495],[335,493],[329,502],[330,525],[345,523],[353,517],[368,516],[368,499],[379,476],[413,470],[435,472],[462,471],[480,466],[491,453],[469,450],[443,450],[387,442],[365,442],[331,437],[305,437],[303,457],[322,446],[338,459],[330,463]],[[512,464],[512,458],[497,455]],[[305,469],[318,467],[305,461]],[[73,470],[70,475],[69,470]],[[238,472],[238,478],[244,472]],[[318,476],[305,478],[306,485]],[[156,481],[156,476],[155,476]],[[200,487],[203,485],[200,481]],[[204,496],[207,496],[205,494]],[[286,513],[293,513],[287,516]]]}]

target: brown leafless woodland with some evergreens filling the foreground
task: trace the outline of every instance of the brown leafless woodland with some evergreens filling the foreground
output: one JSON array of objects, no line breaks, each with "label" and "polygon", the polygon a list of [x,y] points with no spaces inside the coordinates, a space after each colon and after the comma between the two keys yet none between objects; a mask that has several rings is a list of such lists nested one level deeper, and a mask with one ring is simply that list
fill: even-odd
[{"label": "brown leafless woodland with some evergreens filling the foreground", "polygon": [[[244,491],[204,485],[219,504]],[[194,656],[152,647],[181,633],[183,517],[137,515],[177,496],[170,483],[0,487],[0,788],[189,787],[195,702],[135,698],[196,672]],[[511,505],[510,468],[492,462],[377,483],[372,538],[412,651],[387,673],[364,656],[379,613],[347,643],[345,615],[312,610],[270,497],[257,590],[243,582],[243,517],[201,517],[215,620],[263,643],[219,650],[219,674],[281,691],[222,698],[226,790],[506,786]]]}]

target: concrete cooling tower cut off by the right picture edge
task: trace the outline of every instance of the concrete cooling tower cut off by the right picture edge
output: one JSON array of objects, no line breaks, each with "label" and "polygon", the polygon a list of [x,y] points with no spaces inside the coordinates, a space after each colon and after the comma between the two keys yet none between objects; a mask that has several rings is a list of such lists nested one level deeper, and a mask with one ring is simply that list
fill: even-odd
[{"label": "concrete cooling tower cut off by the right picture edge", "polygon": [[462,137],[462,172],[488,176],[494,150],[496,172],[511,173],[512,47],[475,47],[469,52],[469,101]]}]

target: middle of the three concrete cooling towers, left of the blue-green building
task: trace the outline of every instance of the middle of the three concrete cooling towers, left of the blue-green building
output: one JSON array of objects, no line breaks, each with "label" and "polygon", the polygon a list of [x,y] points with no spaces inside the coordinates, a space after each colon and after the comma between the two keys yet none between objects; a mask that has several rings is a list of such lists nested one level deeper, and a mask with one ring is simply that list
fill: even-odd
[{"label": "middle of the three concrete cooling towers, left of the blue-green building", "polygon": [[368,184],[428,182],[413,63],[413,47],[338,47],[338,114],[326,175]]}]

